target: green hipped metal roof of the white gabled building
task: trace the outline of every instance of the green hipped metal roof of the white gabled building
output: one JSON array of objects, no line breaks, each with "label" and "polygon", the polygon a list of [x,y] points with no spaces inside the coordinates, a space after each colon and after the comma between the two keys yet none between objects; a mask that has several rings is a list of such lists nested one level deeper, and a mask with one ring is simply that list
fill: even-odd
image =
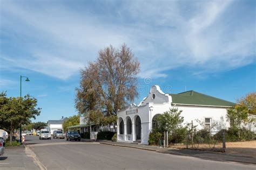
[{"label": "green hipped metal roof of the white gabled building", "polygon": [[222,100],[220,98],[208,96],[198,93],[197,91],[185,91],[179,94],[170,94],[173,104],[188,104],[188,105],[211,105],[218,107],[233,107],[235,103]]}]

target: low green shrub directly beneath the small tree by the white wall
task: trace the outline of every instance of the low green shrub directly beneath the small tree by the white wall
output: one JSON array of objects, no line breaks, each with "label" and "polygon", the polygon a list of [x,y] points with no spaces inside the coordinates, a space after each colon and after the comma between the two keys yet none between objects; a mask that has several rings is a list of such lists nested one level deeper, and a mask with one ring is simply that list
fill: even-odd
[{"label": "low green shrub directly beneath the small tree by the white wall", "polygon": [[179,128],[168,135],[168,143],[184,143],[186,139],[186,128]]}]

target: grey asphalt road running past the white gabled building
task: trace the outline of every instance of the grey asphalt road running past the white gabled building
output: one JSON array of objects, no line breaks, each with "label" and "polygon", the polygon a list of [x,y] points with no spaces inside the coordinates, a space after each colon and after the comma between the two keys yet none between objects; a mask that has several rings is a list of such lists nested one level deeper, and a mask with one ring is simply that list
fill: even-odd
[{"label": "grey asphalt road running past the white gabled building", "polygon": [[[47,169],[255,169],[255,165],[211,161],[95,143],[30,137],[29,145]],[[41,143],[41,144],[39,144]]]}]

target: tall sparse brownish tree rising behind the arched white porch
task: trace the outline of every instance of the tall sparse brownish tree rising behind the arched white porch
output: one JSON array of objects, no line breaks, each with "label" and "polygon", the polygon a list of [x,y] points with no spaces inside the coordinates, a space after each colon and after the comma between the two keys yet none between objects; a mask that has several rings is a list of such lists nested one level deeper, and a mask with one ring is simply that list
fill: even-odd
[{"label": "tall sparse brownish tree rising behind the arched white porch", "polygon": [[117,120],[117,111],[138,96],[139,61],[125,44],[99,51],[95,62],[81,70],[76,108],[88,122],[109,124]]}]

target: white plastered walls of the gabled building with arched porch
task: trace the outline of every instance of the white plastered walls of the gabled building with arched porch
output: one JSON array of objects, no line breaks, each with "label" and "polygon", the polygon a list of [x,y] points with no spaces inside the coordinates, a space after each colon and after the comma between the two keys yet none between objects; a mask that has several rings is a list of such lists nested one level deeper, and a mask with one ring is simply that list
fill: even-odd
[{"label": "white plastered walls of the gabled building with arched porch", "polygon": [[[156,96],[153,98],[153,94]],[[181,116],[184,117],[184,125],[186,123],[191,123],[193,121],[194,125],[198,125],[198,129],[202,129],[203,126],[200,126],[196,119],[200,121],[205,121],[205,118],[211,118],[214,121],[221,121],[223,118],[223,124],[225,128],[230,126],[230,123],[226,119],[226,108],[220,107],[201,107],[193,105],[171,105],[172,97],[168,94],[164,94],[158,86],[153,86],[150,90],[150,93],[147,97],[140,102],[139,105],[131,104],[125,110],[119,110],[117,113],[117,134],[119,134],[119,123],[120,120],[124,121],[124,135],[119,135],[118,141],[131,142],[136,140],[134,131],[135,131],[135,118],[139,115],[142,121],[142,144],[148,144],[149,134],[152,129],[152,119],[157,114],[163,114],[165,111],[170,110],[170,108],[178,108],[183,110]],[[136,111],[137,109],[137,111]],[[128,111],[128,112],[126,112]],[[126,139],[126,119],[130,117],[132,120],[132,139]],[[215,129],[218,130],[218,129]]]}]

